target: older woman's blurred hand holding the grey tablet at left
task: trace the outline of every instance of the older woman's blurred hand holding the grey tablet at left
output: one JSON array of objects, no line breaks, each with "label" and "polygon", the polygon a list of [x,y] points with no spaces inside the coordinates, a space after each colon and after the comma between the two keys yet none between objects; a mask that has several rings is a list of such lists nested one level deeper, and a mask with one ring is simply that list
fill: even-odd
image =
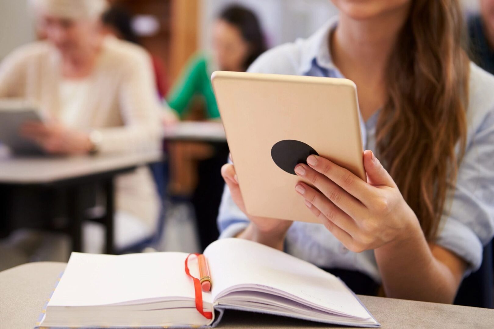
[{"label": "older woman's blurred hand holding the grey tablet at left", "polygon": [[26,123],[21,134],[52,154],[86,154],[92,147],[88,134],[58,123]]}]

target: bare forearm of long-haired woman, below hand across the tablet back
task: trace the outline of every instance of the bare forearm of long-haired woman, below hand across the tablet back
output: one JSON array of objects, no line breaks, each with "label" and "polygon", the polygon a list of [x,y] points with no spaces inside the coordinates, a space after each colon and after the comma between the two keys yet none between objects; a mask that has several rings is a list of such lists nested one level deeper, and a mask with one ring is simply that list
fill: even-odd
[{"label": "bare forearm of long-haired woman, below hand across the tablet back", "polygon": [[374,251],[388,297],[452,303],[459,282],[450,268],[434,257],[418,222],[408,237]]}]

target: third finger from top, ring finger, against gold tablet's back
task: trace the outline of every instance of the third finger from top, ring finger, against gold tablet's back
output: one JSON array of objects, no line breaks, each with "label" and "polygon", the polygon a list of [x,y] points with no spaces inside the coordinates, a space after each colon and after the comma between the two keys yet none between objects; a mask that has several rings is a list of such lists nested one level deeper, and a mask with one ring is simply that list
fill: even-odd
[{"label": "third finger from top, ring finger, against gold tablet's back", "polygon": [[321,221],[324,219],[329,219],[338,225],[338,227],[350,234],[350,236],[353,236],[353,233],[357,229],[355,220],[336,207],[334,203],[329,201],[326,196],[321,194],[321,192],[316,191],[314,188],[305,183],[298,183],[295,186],[295,190],[314,208],[319,210],[319,217]]}]

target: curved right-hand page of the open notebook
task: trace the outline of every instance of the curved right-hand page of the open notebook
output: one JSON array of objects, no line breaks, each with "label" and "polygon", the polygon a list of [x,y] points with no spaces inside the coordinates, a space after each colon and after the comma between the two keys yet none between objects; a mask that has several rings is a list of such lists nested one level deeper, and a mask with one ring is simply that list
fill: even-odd
[{"label": "curved right-hand page of the open notebook", "polygon": [[205,255],[209,261],[215,301],[223,291],[234,286],[258,287],[266,291],[287,292],[349,316],[371,317],[338,278],[279,250],[232,238],[212,243]]}]

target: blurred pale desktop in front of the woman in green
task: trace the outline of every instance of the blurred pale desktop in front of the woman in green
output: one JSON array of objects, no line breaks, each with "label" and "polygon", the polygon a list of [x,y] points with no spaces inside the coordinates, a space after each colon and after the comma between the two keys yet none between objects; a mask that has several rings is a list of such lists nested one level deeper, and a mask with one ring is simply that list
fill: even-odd
[{"label": "blurred pale desktop in front of the woman in green", "polygon": [[186,121],[165,129],[165,141],[226,143],[221,122]]}]

